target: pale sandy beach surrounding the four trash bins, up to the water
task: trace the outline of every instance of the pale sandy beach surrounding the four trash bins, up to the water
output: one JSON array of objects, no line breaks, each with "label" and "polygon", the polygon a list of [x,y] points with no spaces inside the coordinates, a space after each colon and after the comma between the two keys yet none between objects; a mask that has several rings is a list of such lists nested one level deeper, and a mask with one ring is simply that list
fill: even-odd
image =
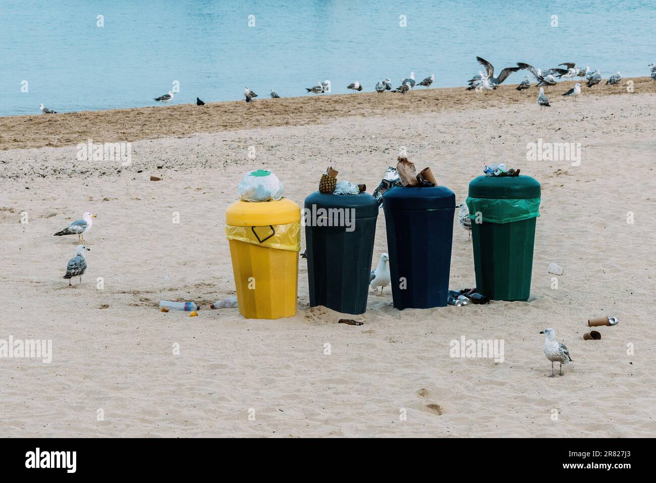
[{"label": "pale sandy beach surrounding the four trash bins, up to the water", "polygon": [[[633,93],[584,87],[578,100],[560,96],[573,82],[559,83],[548,111],[537,89],[504,85],[0,118],[0,339],[52,340],[49,364],[0,359],[3,434],[656,436],[656,83],[632,80]],[[132,142],[131,164],[76,159],[88,138]],[[538,140],[580,143],[580,165],[527,161]],[[225,209],[246,171],[271,169],[302,204],[337,163],[340,179],[371,193],[401,146],[457,203],[485,161],[539,180],[527,303],[401,312],[386,289],[348,317],[363,326],[346,326],[310,308],[300,260],[295,317],[209,310],[235,294]],[[68,287],[77,237],[52,234],[85,211],[97,215],[89,268]],[[384,223],[381,209],[374,266]],[[475,284],[467,239],[456,217],[453,289]],[[565,270],[558,289],[552,262]],[[164,314],[161,299],[202,310]],[[621,323],[584,341],[596,316]],[[548,377],[545,327],[574,360],[562,377]],[[463,336],[504,341],[504,361],[452,358]]]}]

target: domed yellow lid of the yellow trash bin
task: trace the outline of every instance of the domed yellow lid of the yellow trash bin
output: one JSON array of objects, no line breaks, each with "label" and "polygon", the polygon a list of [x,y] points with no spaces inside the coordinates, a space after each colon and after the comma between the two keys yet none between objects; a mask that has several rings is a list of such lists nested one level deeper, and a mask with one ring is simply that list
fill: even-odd
[{"label": "domed yellow lid of the yellow trash bin", "polygon": [[300,221],[300,206],[287,198],[278,201],[235,201],[226,210],[226,224],[267,226]]}]

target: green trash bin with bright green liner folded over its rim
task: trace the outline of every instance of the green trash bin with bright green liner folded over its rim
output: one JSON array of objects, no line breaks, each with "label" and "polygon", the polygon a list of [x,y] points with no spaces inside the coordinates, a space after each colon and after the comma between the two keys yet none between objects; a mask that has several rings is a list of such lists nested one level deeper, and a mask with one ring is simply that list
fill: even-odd
[{"label": "green trash bin with bright green liner folded over its rim", "polygon": [[522,175],[480,176],[469,183],[467,207],[477,291],[493,300],[527,300],[540,183]]}]

